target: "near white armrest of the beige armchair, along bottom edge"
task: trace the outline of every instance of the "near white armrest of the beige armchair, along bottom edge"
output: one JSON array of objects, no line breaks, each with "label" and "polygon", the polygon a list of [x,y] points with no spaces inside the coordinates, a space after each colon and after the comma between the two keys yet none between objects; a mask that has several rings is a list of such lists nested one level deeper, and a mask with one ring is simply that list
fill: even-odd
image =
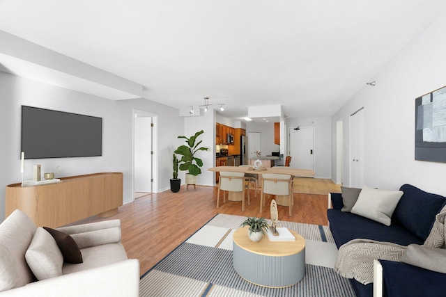
[{"label": "near white armrest of the beige armchair, along bottom edge", "polygon": [[139,296],[139,261],[128,259],[0,292],[0,297]]}]

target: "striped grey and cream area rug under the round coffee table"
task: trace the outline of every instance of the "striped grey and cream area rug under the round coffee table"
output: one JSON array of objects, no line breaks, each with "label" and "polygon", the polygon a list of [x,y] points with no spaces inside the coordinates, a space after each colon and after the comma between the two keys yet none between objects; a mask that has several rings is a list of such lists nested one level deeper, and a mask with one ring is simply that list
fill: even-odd
[{"label": "striped grey and cream area rug under the round coffee table", "polygon": [[326,226],[279,221],[307,243],[305,278],[298,284],[268,288],[240,278],[232,266],[232,234],[243,220],[215,216],[141,276],[140,296],[355,296],[350,282],[332,268],[337,248]]}]

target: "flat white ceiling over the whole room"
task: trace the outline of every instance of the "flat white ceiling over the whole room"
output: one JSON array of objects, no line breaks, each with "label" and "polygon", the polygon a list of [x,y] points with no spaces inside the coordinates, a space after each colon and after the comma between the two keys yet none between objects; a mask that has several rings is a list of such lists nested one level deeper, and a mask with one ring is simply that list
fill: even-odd
[{"label": "flat white ceiling over the whole room", "polygon": [[446,0],[0,0],[0,30],[178,109],[209,97],[227,118],[268,104],[296,118],[335,113],[445,9]]}]

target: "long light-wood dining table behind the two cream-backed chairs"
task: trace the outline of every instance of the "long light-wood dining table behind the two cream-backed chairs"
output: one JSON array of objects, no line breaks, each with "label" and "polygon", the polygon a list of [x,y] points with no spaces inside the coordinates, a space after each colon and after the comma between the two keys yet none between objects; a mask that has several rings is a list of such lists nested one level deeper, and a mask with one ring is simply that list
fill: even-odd
[{"label": "long light-wood dining table behind the two cream-backed chairs", "polygon": [[[277,167],[269,167],[269,168],[260,168],[256,169],[251,166],[217,166],[208,168],[209,171],[213,172],[220,172],[220,171],[229,171],[229,172],[244,172],[248,174],[254,174],[259,175],[259,188],[261,191],[262,188],[262,182],[261,182],[261,175],[263,173],[279,173],[283,175],[292,175],[293,177],[314,177],[314,171],[308,170],[308,169],[298,169],[298,168],[292,168],[292,167],[286,167],[286,166],[277,166]],[[229,193],[230,201],[241,201],[242,195],[241,193]],[[279,205],[283,206],[289,206],[288,199],[286,196],[277,195],[276,196],[276,202]]]}]

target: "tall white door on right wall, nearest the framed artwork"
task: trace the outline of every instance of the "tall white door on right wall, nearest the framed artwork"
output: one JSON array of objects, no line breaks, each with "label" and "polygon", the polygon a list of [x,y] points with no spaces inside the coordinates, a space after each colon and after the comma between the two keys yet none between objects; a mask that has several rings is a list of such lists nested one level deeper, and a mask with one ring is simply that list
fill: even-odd
[{"label": "tall white door on right wall, nearest the framed artwork", "polygon": [[350,116],[350,186],[364,186],[364,109]]}]

